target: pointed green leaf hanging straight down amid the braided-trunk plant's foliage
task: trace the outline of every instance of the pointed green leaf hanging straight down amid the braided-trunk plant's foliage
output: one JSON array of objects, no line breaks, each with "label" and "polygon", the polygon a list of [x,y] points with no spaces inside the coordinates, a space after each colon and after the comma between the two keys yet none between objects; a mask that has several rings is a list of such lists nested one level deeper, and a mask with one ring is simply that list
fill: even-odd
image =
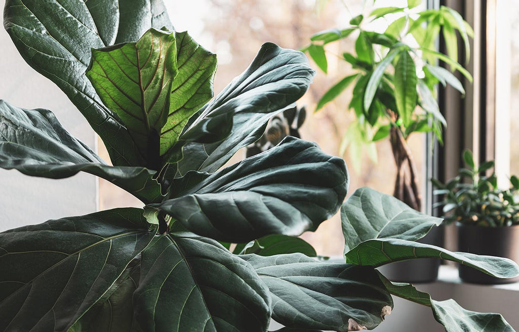
[{"label": "pointed green leaf hanging straight down amid the braided-trunk plant's foliage", "polygon": [[398,114],[407,127],[416,107],[416,67],[409,52],[400,52],[397,66],[394,68],[394,93],[397,100]]}]

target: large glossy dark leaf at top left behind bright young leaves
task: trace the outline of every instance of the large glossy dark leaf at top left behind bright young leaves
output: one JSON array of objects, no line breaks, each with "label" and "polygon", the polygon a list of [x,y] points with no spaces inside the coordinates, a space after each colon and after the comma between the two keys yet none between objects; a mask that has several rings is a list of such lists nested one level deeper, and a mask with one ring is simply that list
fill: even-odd
[{"label": "large glossy dark leaf at top left behind bright young leaves", "polygon": [[7,0],[4,25],[25,61],[56,83],[101,136],[114,165],[144,165],[124,124],[84,74],[92,48],[136,41],[150,27],[173,30],[162,1]]}]

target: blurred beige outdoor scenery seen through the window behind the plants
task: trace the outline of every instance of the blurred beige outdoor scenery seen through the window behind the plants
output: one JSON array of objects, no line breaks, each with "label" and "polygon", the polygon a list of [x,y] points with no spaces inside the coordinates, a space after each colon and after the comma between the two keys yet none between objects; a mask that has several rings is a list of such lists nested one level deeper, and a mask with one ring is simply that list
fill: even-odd
[{"label": "blurred beige outdoor scenery seen through the window behind the plants", "polygon": [[[215,95],[234,77],[238,76],[254,58],[260,46],[270,41],[283,48],[300,49],[308,44],[310,36],[334,27],[347,26],[353,16],[363,12],[365,0],[190,0],[189,2],[166,2],[171,21],[177,31],[187,30],[204,48],[217,54],[218,69],[214,81]],[[369,3],[369,2],[366,2]],[[406,0],[377,0],[376,7],[405,5]],[[368,4],[365,11],[373,9]],[[383,32],[387,24],[379,23]],[[313,84],[299,100],[298,106],[307,106],[307,119],[300,133],[302,139],[314,141],[328,154],[339,155],[348,124],[355,118],[347,110],[352,87],[339,98],[326,105],[319,113],[313,114],[317,101],[330,87],[352,72],[345,61],[339,59],[340,52],[354,49],[354,38],[335,43],[327,53],[328,74],[317,70]],[[417,168],[422,170],[425,153],[424,135],[412,137],[410,146]],[[103,147],[100,142],[100,154]],[[388,140],[376,145],[378,154],[363,154],[359,161],[352,161],[348,153],[344,156],[349,166],[351,194],[355,189],[369,186],[391,194],[394,186],[396,167]],[[230,161],[234,163],[244,158],[244,151]],[[102,155],[107,160],[107,155]],[[358,162],[360,170],[352,165]],[[420,188],[424,179],[420,176]],[[421,189],[420,189],[421,190]],[[141,206],[126,192],[100,180],[100,209],[111,209],[122,205]],[[323,223],[316,232],[302,236],[310,242],[319,255],[340,256],[344,250],[344,238],[338,215]]]}]

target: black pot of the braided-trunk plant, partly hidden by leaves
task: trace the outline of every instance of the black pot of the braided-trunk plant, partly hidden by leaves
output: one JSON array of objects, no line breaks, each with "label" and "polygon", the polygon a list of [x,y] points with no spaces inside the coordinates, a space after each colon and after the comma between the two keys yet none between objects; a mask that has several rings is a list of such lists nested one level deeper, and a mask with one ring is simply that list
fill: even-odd
[{"label": "black pot of the braided-trunk plant, partly hidden by leaves", "polygon": [[[417,242],[443,246],[444,227],[433,227],[431,231]],[[420,258],[398,261],[378,268],[380,273],[394,282],[428,283],[438,279],[441,259]]]}]

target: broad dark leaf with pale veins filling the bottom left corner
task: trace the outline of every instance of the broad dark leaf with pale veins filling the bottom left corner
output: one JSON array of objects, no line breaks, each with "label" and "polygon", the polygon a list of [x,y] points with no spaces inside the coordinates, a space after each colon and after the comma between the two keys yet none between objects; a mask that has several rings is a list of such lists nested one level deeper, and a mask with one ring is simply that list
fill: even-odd
[{"label": "broad dark leaf with pale veins filling the bottom left corner", "polygon": [[0,329],[67,330],[153,239],[126,208],[0,233]]}]

